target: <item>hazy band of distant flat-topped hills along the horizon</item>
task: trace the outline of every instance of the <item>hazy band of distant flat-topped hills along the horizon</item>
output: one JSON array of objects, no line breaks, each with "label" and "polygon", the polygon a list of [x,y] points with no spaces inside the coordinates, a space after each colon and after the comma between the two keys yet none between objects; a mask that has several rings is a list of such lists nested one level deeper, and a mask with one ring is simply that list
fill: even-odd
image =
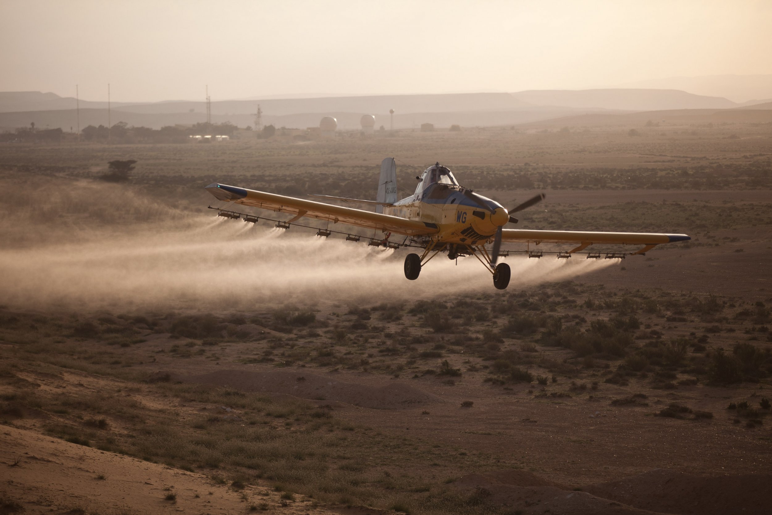
[{"label": "hazy band of distant flat-topped hills along the horizon", "polygon": [[[436,95],[378,95],[371,97],[320,97],[270,100],[223,100],[212,102],[212,121],[230,121],[239,127],[254,123],[260,103],[264,124],[276,127],[314,127],[323,116],[334,116],[340,129],[357,129],[361,114],[374,114],[376,127],[390,126],[389,109],[394,109],[394,128],[432,123],[437,127],[516,125],[553,120],[562,124],[621,124],[620,114],[669,111],[666,116],[709,117],[723,120],[767,120],[772,103],[750,107],[720,97],[702,97],[679,90],[530,90],[519,93],[449,93]],[[54,93],[35,91],[0,93],[0,130],[36,127],[69,130],[76,125],[75,100]],[[26,110],[13,110],[25,106]],[[60,106],[60,107],[51,107]],[[36,107],[36,108],[32,108]],[[46,107],[46,109],[42,109]],[[107,103],[80,101],[80,127],[107,124]],[[5,109],[5,112],[2,110]],[[10,110],[9,110],[10,109]],[[691,110],[676,114],[674,110]],[[699,110],[709,110],[699,112]],[[726,114],[713,114],[723,110]],[[664,114],[664,113],[663,113]],[[577,117],[580,115],[580,117]],[[574,118],[565,118],[565,117]],[[659,114],[645,114],[656,119]],[[584,117],[584,118],[582,118]],[[637,117],[636,117],[637,119]],[[648,118],[647,118],[648,119]],[[172,101],[158,103],[113,103],[113,123],[160,128],[164,125],[195,124],[205,120],[205,103]],[[548,122],[549,123],[549,122]]]}]

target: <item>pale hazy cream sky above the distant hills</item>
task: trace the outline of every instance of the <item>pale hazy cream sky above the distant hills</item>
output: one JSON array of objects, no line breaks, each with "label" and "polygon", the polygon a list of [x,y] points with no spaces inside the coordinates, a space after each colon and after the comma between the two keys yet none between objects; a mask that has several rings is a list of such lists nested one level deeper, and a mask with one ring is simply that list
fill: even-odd
[{"label": "pale hazy cream sky above the distant hills", "polygon": [[103,100],[578,89],[772,73],[770,0],[0,0],[0,91]]}]

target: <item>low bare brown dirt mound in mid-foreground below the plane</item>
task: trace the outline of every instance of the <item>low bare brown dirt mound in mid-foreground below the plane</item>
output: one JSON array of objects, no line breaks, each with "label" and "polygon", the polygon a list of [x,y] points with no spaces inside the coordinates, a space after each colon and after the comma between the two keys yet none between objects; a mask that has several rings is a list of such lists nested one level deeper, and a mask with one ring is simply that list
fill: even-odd
[{"label": "low bare brown dirt mound in mid-foreground below the plane", "polygon": [[436,395],[404,383],[392,382],[386,386],[374,387],[300,371],[224,370],[178,379],[205,385],[227,386],[242,391],[265,391],[314,400],[346,402],[375,409],[412,408],[442,402]]}]

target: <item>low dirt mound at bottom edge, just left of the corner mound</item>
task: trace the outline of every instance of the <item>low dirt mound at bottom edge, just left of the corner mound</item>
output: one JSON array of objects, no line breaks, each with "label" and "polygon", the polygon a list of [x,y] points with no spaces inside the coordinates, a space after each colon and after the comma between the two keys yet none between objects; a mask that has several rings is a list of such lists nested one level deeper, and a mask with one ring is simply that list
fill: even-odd
[{"label": "low dirt mound at bottom edge, just left of the corner mound", "polygon": [[651,515],[586,492],[566,490],[523,470],[469,474],[455,486],[476,501],[511,507],[522,513],[571,513],[571,515]]}]

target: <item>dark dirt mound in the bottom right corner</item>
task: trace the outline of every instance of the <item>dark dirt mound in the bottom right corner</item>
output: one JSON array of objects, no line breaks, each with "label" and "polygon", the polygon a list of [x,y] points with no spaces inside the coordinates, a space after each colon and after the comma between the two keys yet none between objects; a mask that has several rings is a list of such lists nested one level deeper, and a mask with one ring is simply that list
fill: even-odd
[{"label": "dark dirt mound in the bottom right corner", "polygon": [[761,515],[770,513],[770,485],[772,474],[693,476],[655,469],[582,490],[642,510],[679,515]]}]

